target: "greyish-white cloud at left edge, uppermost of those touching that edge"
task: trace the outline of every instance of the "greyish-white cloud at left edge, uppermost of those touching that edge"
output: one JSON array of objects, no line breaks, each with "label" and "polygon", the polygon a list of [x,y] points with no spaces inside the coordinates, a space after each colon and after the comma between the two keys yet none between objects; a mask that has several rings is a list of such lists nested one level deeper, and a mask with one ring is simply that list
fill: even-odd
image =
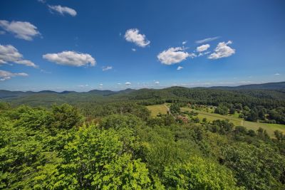
[{"label": "greyish-white cloud at left edge, uppermost of those touching that edge", "polygon": [[29,22],[21,21],[4,21],[0,20],[0,26],[5,31],[14,33],[16,38],[21,38],[26,41],[31,41],[34,36],[38,36],[41,33],[37,30],[36,26]]}]

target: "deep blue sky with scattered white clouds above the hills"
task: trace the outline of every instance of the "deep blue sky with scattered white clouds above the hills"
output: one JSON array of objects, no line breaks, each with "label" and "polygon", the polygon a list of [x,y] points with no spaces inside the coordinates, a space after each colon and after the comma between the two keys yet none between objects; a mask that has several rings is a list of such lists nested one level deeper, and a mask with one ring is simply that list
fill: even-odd
[{"label": "deep blue sky with scattered white clouds above the hills", "polygon": [[0,89],[285,80],[284,1],[0,1]]}]

